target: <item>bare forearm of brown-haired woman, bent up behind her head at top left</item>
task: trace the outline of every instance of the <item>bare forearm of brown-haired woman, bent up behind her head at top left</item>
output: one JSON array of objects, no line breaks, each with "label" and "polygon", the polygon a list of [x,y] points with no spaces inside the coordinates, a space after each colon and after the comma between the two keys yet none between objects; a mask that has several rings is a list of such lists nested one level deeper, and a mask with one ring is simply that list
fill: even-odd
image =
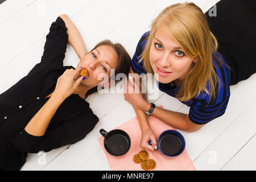
[{"label": "bare forearm of brown-haired woman, bent up behind her head at top left", "polygon": [[63,21],[65,22],[65,26],[68,29],[68,42],[69,44],[71,44],[73,49],[75,49],[77,56],[79,56],[79,59],[81,60],[82,56],[88,53],[85,47],[84,40],[82,40],[82,36],[79,30],[77,30],[75,24],[73,24],[71,19],[69,19],[68,15],[60,15],[60,18],[63,19]]}]

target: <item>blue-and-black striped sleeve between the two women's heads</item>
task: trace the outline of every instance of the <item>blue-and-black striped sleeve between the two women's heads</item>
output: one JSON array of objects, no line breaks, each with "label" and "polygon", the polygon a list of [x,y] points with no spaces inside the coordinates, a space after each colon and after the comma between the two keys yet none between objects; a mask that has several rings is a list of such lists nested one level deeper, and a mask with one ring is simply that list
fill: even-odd
[{"label": "blue-and-black striped sleeve between the two women's heads", "polygon": [[137,45],[136,51],[134,53],[133,59],[131,60],[131,69],[133,69],[134,73],[138,73],[139,75],[141,73],[147,73],[146,69],[143,67],[143,60],[139,62],[142,52],[144,51],[144,47],[147,43],[147,38],[150,32],[146,32],[142,35],[141,39],[139,40],[139,43]]}]

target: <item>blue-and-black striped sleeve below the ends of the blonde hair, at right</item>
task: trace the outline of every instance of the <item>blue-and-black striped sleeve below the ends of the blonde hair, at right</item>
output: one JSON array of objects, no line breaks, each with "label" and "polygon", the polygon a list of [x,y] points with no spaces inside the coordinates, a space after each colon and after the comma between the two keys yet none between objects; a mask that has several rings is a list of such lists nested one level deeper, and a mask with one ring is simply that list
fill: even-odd
[{"label": "blue-and-black striped sleeve below the ends of the blonde hair, at right", "polygon": [[226,111],[226,107],[228,106],[229,97],[226,98],[224,102],[220,104],[211,105],[211,106],[191,106],[189,109],[188,117],[197,125],[204,125],[213,119],[216,119],[223,115]]}]

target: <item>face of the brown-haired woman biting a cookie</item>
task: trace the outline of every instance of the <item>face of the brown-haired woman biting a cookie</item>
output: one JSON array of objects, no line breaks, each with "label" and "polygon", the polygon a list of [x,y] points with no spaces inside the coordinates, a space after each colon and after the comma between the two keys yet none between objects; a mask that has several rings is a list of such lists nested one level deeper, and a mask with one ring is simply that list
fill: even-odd
[{"label": "face of the brown-haired woman biting a cookie", "polygon": [[[100,77],[100,80],[97,79],[100,73],[105,73],[110,78],[110,69],[117,68],[117,65],[118,55],[114,49],[110,46],[100,46],[85,55],[76,69],[82,67],[88,71],[89,76],[81,84],[93,88],[104,80],[103,76]],[[80,77],[80,75],[77,75],[77,77]]]}]

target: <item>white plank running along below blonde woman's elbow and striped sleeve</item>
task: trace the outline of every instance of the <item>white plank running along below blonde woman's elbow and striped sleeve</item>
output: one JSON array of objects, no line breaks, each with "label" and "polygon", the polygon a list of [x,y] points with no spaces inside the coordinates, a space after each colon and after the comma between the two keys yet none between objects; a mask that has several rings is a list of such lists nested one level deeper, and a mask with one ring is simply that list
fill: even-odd
[{"label": "white plank running along below blonde woman's elbow and striped sleeve", "polygon": [[[210,144],[249,106],[255,99],[256,74],[233,90],[224,115],[207,123],[203,128],[185,136],[187,151],[192,161],[210,146]],[[243,96],[241,99],[241,95]]]}]

